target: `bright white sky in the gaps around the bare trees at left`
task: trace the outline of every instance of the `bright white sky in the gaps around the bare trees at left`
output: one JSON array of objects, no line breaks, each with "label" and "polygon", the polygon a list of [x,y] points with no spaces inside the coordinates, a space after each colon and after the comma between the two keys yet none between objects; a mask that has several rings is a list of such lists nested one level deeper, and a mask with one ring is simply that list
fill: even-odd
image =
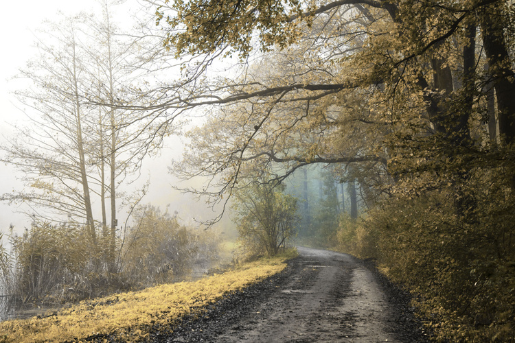
[{"label": "bright white sky in the gaps around the bare trees at left", "polygon": [[[127,0],[125,6],[133,8],[130,13],[134,13],[134,8],[139,8],[138,0]],[[3,51],[0,57],[0,141],[3,141],[1,136],[10,135],[12,130],[10,123],[23,117],[23,113],[14,106],[15,100],[9,93],[9,90],[12,89],[12,82],[8,82],[8,78],[12,78],[33,54],[32,45],[36,29],[41,27],[43,20],[56,18],[59,11],[72,15],[82,10],[91,12],[93,8],[98,8],[98,1],[25,0],[21,3],[3,1],[0,11],[1,47]],[[122,11],[126,11],[124,8],[116,8],[115,16],[130,20],[130,15],[125,16],[122,13]],[[159,205],[162,208],[171,203],[170,211],[179,210],[179,217],[187,220],[188,217],[195,215],[190,210],[192,208],[191,202],[179,199],[179,193],[172,191],[170,187],[172,180],[168,174],[167,166],[172,154],[174,154],[173,149],[163,150],[161,163],[149,161],[147,170],[143,171],[144,178],[148,178],[148,174],[150,174],[148,169],[152,169],[150,194],[146,201],[144,200],[144,203],[152,202],[152,204]],[[14,176],[14,170],[9,166],[0,165],[0,195],[8,193],[14,187],[20,187],[20,185]],[[187,206],[188,202],[190,206]],[[180,204],[182,204],[182,208]],[[119,222],[123,221],[125,216],[125,213],[120,213]],[[24,215],[17,214],[14,206],[0,203],[0,232],[6,233],[10,224],[13,224],[16,231],[20,233],[25,227],[30,226],[30,221]]]}]

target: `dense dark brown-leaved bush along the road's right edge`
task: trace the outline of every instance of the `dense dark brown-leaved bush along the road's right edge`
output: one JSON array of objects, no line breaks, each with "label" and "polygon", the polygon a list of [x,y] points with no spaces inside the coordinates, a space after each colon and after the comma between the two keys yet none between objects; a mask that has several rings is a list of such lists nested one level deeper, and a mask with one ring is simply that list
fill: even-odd
[{"label": "dense dark brown-leaved bush along the road's right edge", "polygon": [[371,211],[356,229],[356,250],[367,255],[377,246],[378,261],[389,276],[419,295],[417,307],[437,339],[511,340],[515,202],[503,187],[479,187],[484,178],[469,182],[470,215],[457,211],[452,188],[398,196]]}]

